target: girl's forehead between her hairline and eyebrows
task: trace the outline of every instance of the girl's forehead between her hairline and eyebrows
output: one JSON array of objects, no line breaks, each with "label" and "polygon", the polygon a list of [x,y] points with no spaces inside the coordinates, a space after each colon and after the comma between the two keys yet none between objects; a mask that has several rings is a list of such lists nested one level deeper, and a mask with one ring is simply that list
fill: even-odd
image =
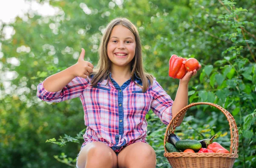
[{"label": "girl's forehead between her hairline and eyebrows", "polygon": [[123,25],[116,25],[112,32],[111,32],[111,35],[110,35],[110,38],[111,37],[118,37],[118,38],[133,38],[135,39],[135,36],[134,34],[128,29],[126,28],[125,26]]}]

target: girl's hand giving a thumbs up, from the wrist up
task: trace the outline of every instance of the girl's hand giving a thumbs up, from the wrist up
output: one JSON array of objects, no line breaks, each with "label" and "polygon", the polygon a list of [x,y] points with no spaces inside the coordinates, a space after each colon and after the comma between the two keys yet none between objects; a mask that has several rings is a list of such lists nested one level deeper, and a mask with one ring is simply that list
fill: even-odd
[{"label": "girl's hand giving a thumbs up, from the wrist up", "polygon": [[74,77],[79,76],[81,78],[87,78],[87,76],[93,72],[93,64],[88,61],[84,61],[84,54],[85,50],[82,48],[77,63],[72,66],[72,74]]}]

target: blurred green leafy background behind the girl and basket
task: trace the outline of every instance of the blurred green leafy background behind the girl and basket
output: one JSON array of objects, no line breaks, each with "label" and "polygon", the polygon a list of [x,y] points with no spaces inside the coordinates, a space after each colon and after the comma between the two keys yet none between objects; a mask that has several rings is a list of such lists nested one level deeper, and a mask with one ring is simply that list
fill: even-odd
[{"label": "blurred green leafy background behind the girl and basket", "polygon": [[[75,166],[86,128],[81,102],[43,102],[36,87],[75,64],[81,48],[96,65],[102,32],[116,17],[137,26],[145,68],[173,99],[179,81],[168,76],[170,56],[198,59],[202,69],[189,82],[189,103],[227,109],[239,129],[234,167],[256,164],[256,0],[22,1],[27,4],[23,14],[12,22],[0,20],[1,168]],[[170,168],[163,157],[166,126],[151,111],[146,117],[157,168]],[[217,134],[214,141],[230,146],[226,117],[210,106],[190,108],[175,131],[181,139]]]}]

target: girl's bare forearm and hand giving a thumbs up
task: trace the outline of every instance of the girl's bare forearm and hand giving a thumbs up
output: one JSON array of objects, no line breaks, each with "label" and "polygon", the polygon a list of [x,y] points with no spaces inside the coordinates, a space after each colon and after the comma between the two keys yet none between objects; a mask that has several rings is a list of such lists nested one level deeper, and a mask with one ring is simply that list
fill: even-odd
[{"label": "girl's bare forearm and hand giving a thumbs up", "polygon": [[82,48],[76,64],[46,78],[44,81],[44,88],[49,92],[58,92],[77,76],[87,78],[89,73],[93,72],[93,64],[84,61],[84,53],[85,51]]}]

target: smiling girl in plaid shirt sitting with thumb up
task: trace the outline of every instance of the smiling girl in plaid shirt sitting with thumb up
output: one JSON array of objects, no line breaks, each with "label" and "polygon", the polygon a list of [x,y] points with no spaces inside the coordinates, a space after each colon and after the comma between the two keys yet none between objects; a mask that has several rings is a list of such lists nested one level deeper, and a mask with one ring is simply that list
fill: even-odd
[{"label": "smiling girl in plaid shirt sitting with thumb up", "polygon": [[87,129],[77,167],[155,168],[156,154],[146,142],[145,115],[152,109],[168,125],[187,105],[188,83],[197,70],[180,79],[173,101],[156,79],[145,73],[137,28],[125,18],[108,24],[95,69],[84,61],[84,54],[82,48],[78,62],[45,79],[37,93],[38,98],[50,102],[81,99]]}]

